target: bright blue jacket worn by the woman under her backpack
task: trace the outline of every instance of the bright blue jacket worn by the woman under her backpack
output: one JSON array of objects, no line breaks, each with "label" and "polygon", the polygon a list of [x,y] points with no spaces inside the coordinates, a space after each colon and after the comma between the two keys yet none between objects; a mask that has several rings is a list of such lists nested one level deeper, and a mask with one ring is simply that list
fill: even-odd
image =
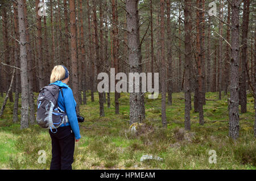
[{"label": "bright blue jacket worn by the woman under her backpack", "polygon": [[79,140],[81,136],[80,136],[79,124],[78,124],[77,115],[76,115],[76,100],[73,96],[73,91],[70,87],[68,87],[67,84],[61,81],[56,81],[51,84],[64,88],[63,89],[64,95],[61,95],[61,91],[59,92],[58,106],[61,108],[61,110],[67,113],[68,123],[66,123],[65,125],[61,124],[60,127],[66,127],[70,125],[73,133],[75,134],[76,140]]}]

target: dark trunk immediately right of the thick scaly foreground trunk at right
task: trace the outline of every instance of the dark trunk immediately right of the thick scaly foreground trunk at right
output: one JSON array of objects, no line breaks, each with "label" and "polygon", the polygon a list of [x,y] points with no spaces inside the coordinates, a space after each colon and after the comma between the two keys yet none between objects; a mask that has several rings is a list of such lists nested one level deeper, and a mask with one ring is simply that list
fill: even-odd
[{"label": "dark trunk immediately right of the thick scaly foreground trunk at right", "polygon": [[241,113],[246,112],[247,96],[246,96],[246,58],[247,58],[247,34],[249,25],[249,8],[250,0],[243,1],[243,22],[242,22],[242,70],[241,70],[241,84],[240,84],[240,103]]}]

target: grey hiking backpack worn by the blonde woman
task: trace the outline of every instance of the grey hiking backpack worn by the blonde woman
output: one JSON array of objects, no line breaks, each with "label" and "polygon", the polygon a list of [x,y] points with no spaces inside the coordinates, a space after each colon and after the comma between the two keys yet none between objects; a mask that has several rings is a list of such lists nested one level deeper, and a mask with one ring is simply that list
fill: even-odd
[{"label": "grey hiking backpack worn by the blonde woman", "polygon": [[[62,88],[60,89],[56,85],[48,85],[40,89],[38,95],[36,122],[40,127],[50,129],[52,133],[56,133],[57,128],[67,122],[66,113],[57,105],[59,91],[63,96]],[[52,129],[56,129],[56,131],[53,132]]]}]

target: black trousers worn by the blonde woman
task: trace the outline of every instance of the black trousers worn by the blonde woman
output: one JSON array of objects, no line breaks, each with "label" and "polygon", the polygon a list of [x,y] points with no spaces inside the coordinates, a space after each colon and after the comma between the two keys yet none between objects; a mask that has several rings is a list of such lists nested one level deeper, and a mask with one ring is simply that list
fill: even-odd
[{"label": "black trousers worn by the blonde woman", "polygon": [[[56,130],[53,129],[53,132]],[[70,126],[57,128],[57,133],[49,130],[52,138],[51,170],[72,170],[75,150],[75,134]]]}]

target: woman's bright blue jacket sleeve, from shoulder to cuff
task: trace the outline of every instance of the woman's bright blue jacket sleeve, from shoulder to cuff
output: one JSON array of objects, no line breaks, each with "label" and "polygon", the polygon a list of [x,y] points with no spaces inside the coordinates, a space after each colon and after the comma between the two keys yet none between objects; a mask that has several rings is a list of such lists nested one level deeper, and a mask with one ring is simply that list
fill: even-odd
[{"label": "woman's bright blue jacket sleeve, from shoulder to cuff", "polygon": [[77,121],[76,102],[73,96],[73,91],[69,87],[68,89],[64,89],[64,90],[65,90],[65,92],[63,93],[64,104],[65,104],[65,111],[68,116],[68,122],[71,125],[72,131],[75,134],[76,140],[79,140],[81,136],[80,136],[79,124]]}]

